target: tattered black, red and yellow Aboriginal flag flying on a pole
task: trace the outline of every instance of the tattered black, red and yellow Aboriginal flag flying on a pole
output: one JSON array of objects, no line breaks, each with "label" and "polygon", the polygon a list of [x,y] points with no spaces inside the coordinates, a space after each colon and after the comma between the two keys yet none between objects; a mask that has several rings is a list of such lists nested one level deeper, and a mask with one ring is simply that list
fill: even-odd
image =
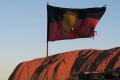
[{"label": "tattered black, red and yellow Aboriginal flag flying on a pole", "polygon": [[106,7],[73,9],[47,5],[48,41],[93,37],[105,10]]}]

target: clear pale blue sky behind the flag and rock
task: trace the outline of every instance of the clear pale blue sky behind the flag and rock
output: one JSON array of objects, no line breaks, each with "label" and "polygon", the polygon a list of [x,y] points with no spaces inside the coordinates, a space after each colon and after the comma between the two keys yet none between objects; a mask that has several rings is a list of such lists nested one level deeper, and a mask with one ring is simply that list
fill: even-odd
[{"label": "clear pale blue sky behind the flag and rock", "polygon": [[49,42],[49,55],[120,47],[120,0],[0,0],[0,80],[7,80],[19,63],[46,56],[47,2],[66,8],[107,5],[94,39]]}]

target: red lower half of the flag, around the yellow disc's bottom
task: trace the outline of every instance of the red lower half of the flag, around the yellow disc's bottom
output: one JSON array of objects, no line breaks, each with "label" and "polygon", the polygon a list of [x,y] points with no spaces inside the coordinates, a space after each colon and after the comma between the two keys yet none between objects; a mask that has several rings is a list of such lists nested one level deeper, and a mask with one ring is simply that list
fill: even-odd
[{"label": "red lower half of the flag, around the yellow disc's bottom", "polygon": [[70,31],[64,29],[62,21],[51,22],[48,26],[49,41],[92,37],[98,21],[95,18],[78,19]]}]

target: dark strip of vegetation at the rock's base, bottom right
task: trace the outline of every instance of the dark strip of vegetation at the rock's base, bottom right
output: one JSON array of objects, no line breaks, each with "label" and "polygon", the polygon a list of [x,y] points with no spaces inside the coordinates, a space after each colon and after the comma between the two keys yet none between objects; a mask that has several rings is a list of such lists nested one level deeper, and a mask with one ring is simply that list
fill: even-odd
[{"label": "dark strip of vegetation at the rock's base, bottom right", "polygon": [[120,80],[120,72],[106,71],[103,73],[87,72],[78,74],[73,71],[70,80]]}]

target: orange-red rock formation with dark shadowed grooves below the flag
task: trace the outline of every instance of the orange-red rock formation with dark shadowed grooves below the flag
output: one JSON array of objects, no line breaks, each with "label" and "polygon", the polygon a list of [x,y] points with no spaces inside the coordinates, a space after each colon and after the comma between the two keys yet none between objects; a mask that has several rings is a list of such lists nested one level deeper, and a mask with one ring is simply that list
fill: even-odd
[{"label": "orange-red rock formation with dark shadowed grooves below the flag", "polygon": [[19,64],[9,80],[70,80],[73,72],[104,72],[120,67],[120,48],[110,50],[78,50],[60,53]]}]

